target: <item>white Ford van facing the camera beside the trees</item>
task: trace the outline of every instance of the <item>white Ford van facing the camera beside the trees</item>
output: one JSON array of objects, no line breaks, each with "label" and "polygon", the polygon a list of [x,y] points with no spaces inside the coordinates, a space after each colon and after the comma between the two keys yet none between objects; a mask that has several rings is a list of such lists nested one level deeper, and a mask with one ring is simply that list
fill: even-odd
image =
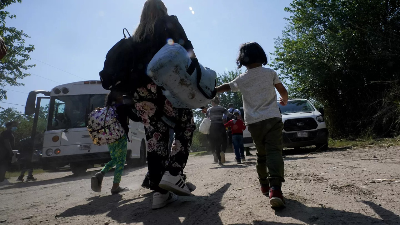
[{"label": "white Ford van facing the camera beside the trees", "polygon": [[[328,129],[324,121],[323,108],[316,110],[307,99],[288,100],[286,106],[281,106],[278,102],[278,106],[284,123],[282,131],[284,148],[299,149],[315,145],[322,151],[328,149]],[[243,115],[243,108],[240,108],[240,111]],[[245,147],[254,146],[247,128],[243,132],[243,142]]]}]

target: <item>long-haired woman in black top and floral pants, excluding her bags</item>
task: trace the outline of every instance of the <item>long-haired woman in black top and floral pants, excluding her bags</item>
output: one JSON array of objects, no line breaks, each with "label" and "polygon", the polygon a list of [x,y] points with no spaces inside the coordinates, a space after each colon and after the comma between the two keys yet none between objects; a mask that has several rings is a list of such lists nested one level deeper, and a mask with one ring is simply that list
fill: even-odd
[{"label": "long-haired woman in black top and floral pants, excluding her bags", "polygon": [[[192,110],[174,108],[147,76],[147,65],[158,50],[171,41],[182,45],[191,57],[196,56],[178,18],[168,16],[161,0],[144,3],[132,38],[137,56],[133,71],[142,77],[138,81],[141,85],[132,90],[133,99],[146,132],[150,189],[155,191],[152,208],[159,209],[176,201],[176,195],[192,195],[179,173],[188,160],[196,125]],[[175,133],[171,150],[168,149],[170,128]]]}]

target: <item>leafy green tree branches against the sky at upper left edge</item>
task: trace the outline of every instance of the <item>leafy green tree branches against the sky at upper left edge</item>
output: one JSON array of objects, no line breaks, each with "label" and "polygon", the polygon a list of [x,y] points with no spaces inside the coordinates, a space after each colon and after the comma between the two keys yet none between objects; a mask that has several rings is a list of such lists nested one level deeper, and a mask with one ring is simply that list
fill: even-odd
[{"label": "leafy green tree branches against the sky at upper left edge", "polygon": [[7,99],[7,91],[3,89],[6,85],[23,86],[18,79],[29,76],[25,71],[36,66],[28,63],[29,53],[34,50],[32,44],[25,44],[25,38],[29,36],[23,30],[6,26],[6,19],[15,18],[16,15],[4,11],[4,8],[16,2],[21,3],[22,0],[0,0],[0,36],[3,37],[8,51],[0,62],[0,101]]}]

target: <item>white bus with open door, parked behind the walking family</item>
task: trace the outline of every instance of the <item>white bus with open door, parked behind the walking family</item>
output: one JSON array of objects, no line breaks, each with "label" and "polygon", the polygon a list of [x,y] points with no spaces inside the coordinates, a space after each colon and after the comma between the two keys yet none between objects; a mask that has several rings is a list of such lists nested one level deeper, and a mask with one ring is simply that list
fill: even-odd
[{"label": "white bus with open door, parked behind the walking family", "polygon": [[[90,112],[97,107],[104,107],[108,92],[102,88],[100,81],[88,80],[61,84],[51,91],[34,90],[29,93],[25,114],[34,114],[32,137],[42,132],[39,130],[40,121],[46,120],[46,125],[42,125],[46,127],[40,158],[43,169],[69,165],[72,173],[81,174],[95,164],[110,161],[107,145],[92,143],[86,122]],[[143,165],[147,158],[143,123],[129,121],[127,135],[130,142],[126,163],[132,166]]]}]

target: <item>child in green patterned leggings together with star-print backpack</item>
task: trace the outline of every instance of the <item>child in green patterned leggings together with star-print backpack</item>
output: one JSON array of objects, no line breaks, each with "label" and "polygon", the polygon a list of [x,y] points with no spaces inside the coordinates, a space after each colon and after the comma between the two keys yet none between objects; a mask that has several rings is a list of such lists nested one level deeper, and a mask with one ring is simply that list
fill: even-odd
[{"label": "child in green patterned leggings together with star-print backpack", "polygon": [[[104,175],[106,175],[106,173],[110,171],[110,169],[112,169],[114,166],[116,166],[116,168],[114,171],[114,181],[111,188],[111,193],[117,194],[126,188],[120,187],[120,181],[122,177],[122,172],[124,171],[126,151],[129,141],[127,136],[127,134],[129,133],[128,118],[135,121],[137,119],[137,115],[132,110],[132,108],[123,103],[124,97],[122,93],[111,91],[110,94],[108,94],[106,99],[106,107],[104,109],[108,110],[108,112],[110,113],[110,117],[99,117],[103,118],[103,121],[101,121],[102,123],[108,124],[108,126],[106,125],[106,127],[103,127],[101,131],[89,129],[89,125],[93,124],[92,120],[96,120],[97,118],[92,116],[92,114],[96,110],[89,115],[88,129],[90,135],[92,136],[92,139],[93,136],[96,136],[94,135],[96,132],[104,132],[108,133],[109,136],[103,138],[114,140],[111,143],[110,141],[102,142],[102,139],[100,140],[100,142],[106,143],[108,145],[108,151],[110,151],[111,161],[109,161],[100,172],[96,173],[94,177],[90,179],[91,187],[94,192],[101,191]],[[112,124],[110,124],[110,121],[112,122]],[[119,138],[115,140],[115,137],[118,136]]]}]

